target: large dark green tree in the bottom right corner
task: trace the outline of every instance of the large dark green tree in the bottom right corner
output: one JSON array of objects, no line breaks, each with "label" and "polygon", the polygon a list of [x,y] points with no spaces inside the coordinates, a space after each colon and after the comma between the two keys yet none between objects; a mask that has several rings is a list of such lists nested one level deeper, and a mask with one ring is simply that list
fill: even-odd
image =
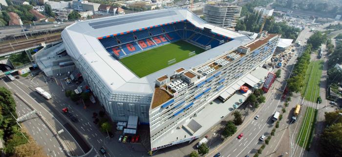
[{"label": "large dark green tree in the bottom right corner", "polygon": [[336,123],[324,129],[320,139],[322,157],[341,157],[342,123]]}]

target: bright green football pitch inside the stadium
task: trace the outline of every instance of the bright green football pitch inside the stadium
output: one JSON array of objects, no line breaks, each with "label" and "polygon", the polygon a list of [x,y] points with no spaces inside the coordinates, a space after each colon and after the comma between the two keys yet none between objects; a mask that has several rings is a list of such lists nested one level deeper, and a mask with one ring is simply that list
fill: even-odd
[{"label": "bright green football pitch inside the stadium", "polygon": [[[193,51],[195,54],[189,56]],[[202,52],[203,49],[180,40],[122,58],[120,61],[137,76],[144,77]],[[176,61],[169,65],[172,59]]]}]

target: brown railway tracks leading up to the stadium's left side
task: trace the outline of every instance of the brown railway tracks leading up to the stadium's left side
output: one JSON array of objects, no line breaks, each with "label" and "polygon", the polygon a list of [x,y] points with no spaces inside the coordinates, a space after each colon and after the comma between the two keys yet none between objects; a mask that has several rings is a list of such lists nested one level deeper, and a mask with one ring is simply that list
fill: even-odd
[{"label": "brown railway tracks leading up to the stadium's left side", "polygon": [[0,54],[22,50],[22,49],[26,49],[26,48],[30,48],[34,46],[40,46],[42,42],[51,43],[51,42],[55,42],[59,40],[62,40],[61,35],[51,35],[51,36],[43,36],[40,38],[30,39],[26,41],[3,43],[3,44],[0,44]]}]

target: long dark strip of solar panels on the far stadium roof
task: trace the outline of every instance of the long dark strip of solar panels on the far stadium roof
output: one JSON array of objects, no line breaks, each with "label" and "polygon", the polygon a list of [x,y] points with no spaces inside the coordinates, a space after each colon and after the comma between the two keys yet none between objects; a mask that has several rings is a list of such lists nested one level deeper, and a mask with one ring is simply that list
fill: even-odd
[{"label": "long dark strip of solar panels on the far stadium roof", "polygon": [[118,19],[109,19],[105,21],[89,23],[89,26],[91,26],[94,29],[99,29],[99,28],[115,26],[119,24],[135,22],[139,20],[147,20],[147,19],[153,19],[153,18],[158,18],[158,17],[169,17],[173,15],[177,15],[177,13],[171,10],[171,11],[150,13],[150,14],[144,14],[144,15],[131,16],[131,17],[123,17],[123,18],[118,18]]}]

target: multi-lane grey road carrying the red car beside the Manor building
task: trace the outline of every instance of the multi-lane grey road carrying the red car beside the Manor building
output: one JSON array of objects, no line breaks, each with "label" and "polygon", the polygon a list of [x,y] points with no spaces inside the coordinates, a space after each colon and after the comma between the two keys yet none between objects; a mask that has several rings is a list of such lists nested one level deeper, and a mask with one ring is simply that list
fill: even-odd
[{"label": "multi-lane grey road carrying the red car beside the Manor building", "polygon": [[[302,48],[299,49],[299,54],[302,52]],[[253,155],[262,145],[262,141],[258,140],[261,135],[270,136],[275,122],[271,120],[273,114],[276,111],[281,112],[283,101],[280,100],[282,91],[285,88],[285,78],[289,77],[296,57],[292,57],[288,65],[282,68],[281,77],[278,78],[268,93],[264,94],[266,97],[266,103],[259,105],[255,112],[248,115],[247,119],[241,126],[238,126],[238,130],[232,137],[222,142],[217,148],[211,150],[208,157],[214,156],[216,153],[221,153],[224,157],[244,157]],[[277,70],[277,69],[276,69]],[[257,120],[254,119],[256,115],[259,115]],[[239,140],[237,136],[243,133],[244,136]]]}]

